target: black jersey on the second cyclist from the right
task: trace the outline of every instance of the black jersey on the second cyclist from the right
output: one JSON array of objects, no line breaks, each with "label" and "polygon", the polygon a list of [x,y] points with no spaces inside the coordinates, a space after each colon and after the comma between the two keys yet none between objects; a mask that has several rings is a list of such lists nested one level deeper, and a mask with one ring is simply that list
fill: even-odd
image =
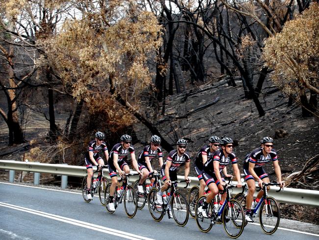
[{"label": "black jersey on the second cyclist from the right", "polygon": [[219,172],[221,172],[229,163],[237,164],[237,157],[234,153],[225,157],[222,150],[215,151],[211,158],[204,164],[204,171],[210,175],[214,174],[213,161],[219,162]]}]

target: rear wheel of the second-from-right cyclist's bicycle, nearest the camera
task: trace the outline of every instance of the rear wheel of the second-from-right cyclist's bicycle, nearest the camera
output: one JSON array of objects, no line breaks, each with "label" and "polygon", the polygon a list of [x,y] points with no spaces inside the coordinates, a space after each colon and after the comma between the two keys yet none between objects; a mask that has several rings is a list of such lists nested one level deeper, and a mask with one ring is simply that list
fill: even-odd
[{"label": "rear wheel of the second-from-right cyclist's bicycle, nearest the camera", "polygon": [[206,196],[202,196],[198,199],[196,207],[195,207],[195,219],[196,219],[196,224],[198,228],[202,232],[207,233],[213,227],[212,221],[214,221],[215,213],[213,211],[213,205],[212,203],[210,203],[207,209],[208,217],[203,216],[201,208],[205,201],[206,201]]}]

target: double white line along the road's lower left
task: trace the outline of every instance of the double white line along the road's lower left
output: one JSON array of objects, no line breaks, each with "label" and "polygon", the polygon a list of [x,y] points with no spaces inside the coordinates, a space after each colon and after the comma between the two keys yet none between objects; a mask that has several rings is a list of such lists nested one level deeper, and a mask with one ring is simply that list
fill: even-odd
[{"label": "double white line along the road's lower left", "polygon": [[35,214],[35,215],[51,218],[53,220],[69,223],[69,224],[76,225],[76,226],[79,226],[79,227],[88,228],[88,229],[91,229],[91,230],[95,230],[95,231],[98,231],[98,232],[102,232],[102,233],[106,233],[106,234],[110,234],[110,235],[114,235],[114,236],[118,236],[118,237],[122,237],[122,238],[126,238],[126,239],[131,239],[131,240],[153,240],[153,239],[150,239],[150,238],[146,238],[146,237],[138,236],[138,235],[135,235],[135,234],[123,232],[123,231],[120,231],[120,230],[116,230],[116,229],[112,229],[112,228],[106,228],[106,227],[103,227],[103,226],[100,226],[100,225],[96,225],[96,224],[92,224],[92,223],[88,223],[88,222],[83,222],[83,221],[76,220],[76,219],[73,219],[73,218],[68,218],[68,217],[63,217],[63,216],[59,216],[59,215],[55,215],[55,214],[51,214],[51,213],[47,213],[47,212],[43,212],[43,211],[28,209],[28,208],[24,208],[24,207],[12,205],[12,204],[7,204],[7,203],[0,202],[0,206],[5,207],[5,208],[14,209],[14,210],[19,210],[19,211],[32,213],[32,214]]}]

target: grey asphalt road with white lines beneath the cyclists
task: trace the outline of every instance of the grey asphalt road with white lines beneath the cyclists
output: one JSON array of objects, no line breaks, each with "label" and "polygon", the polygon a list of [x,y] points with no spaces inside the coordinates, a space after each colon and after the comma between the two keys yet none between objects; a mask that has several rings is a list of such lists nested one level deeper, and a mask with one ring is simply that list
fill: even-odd
[{"label": "grey asphalt road with white lines beneath the cyclists", "polygon": [[[147,206],[137,210],[133,219],[127,217],[124,206],[113,213],[106,212],[98,197],[85,203],[80,191],[69,192],[0,182],[0,240],[88,240],[132,239],[160,240],[182,239],[220,240],[227,237],[222,225],[213,226],[209,233],[198,230],[190,218],[185,227],[164,216],[161,222],[151,217]],[[259,225],[248,224],[239,239],[319,239],[317,226],[307,228],[298,223],[297,230],[282,227],[272,236],[264,234]],[[285,224],[284,224],[285,225]],[[306,227],[305,227],[306,226]],[[311,232],[317,234],[312,234]],[[318,229],[317,229],[318,230]]]}]

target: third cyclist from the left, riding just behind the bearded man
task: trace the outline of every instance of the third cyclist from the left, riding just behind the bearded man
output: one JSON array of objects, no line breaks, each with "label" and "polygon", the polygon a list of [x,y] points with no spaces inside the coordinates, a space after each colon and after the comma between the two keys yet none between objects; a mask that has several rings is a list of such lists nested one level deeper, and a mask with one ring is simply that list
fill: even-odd
[{"label": "third cyclist from the left, riding just behind the bearded man", "polygon": [[[142,184],[147,179],[147,177],[150,176],[152,172],[157,173],[157,171],[153,171],[151,164],[152,159],[155,156],[158,156],[160,167],[163,165],[163,153],[160,149],[160,142],[160,137],[157,135],[153,135],[151,137],[150,145],[145,146],[145,148],[141,151],[137,158],[139,170],[142,172],[141,179],[139,180],[137,186],[139,193],[144,193]],[[151,183],[153,182],[154,179],[151,180]]]}]

